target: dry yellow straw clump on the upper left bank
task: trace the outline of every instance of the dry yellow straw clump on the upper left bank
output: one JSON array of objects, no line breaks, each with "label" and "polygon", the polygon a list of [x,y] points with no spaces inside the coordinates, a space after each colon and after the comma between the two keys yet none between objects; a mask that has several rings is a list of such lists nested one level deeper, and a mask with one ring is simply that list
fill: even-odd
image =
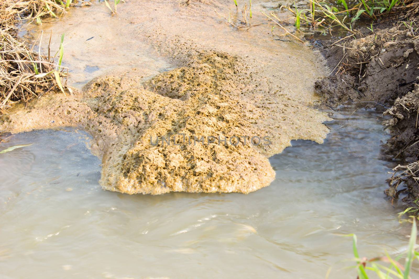
[{"label": "dry yellow straw clump on the upper left bank", "polygon": [[[28,101],[40,97],[48,91],[66,94],[67,68],[61,66],[63,45],[59,49],[59,60],[54,64],[48,54],[41,54],[42,35],[38,49],[28,48],[14,36],[14,24],[24,20],[41,24],[45,16],[58,17],[70,5],[86,5],[86,2],[67,0],[1,0],[0,1],[0,112],[4,113],[15,102]],[[36,24],[34,23],[34,24]],[[63,39],[63,37],[62,37]],[[51,38],[49,38],[51,41]],[[38,39],[36,40],[38,42]],[[34,45],[36,44],[34,43]]]}]

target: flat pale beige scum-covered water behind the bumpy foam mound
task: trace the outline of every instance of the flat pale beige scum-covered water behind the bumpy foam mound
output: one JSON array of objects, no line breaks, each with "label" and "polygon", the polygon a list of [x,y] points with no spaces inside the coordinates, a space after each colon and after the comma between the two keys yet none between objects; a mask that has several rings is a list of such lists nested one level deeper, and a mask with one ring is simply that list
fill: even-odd
[{"label": "flat pale beige scum-covered water behind the bumpy foam mound", "polygon": [[[91,2],[91,7],[68,10],[60,20],[45,18],[42,25],[24,24],[20,32],[32,44],[43,31],[44,53],[52,32],[52,54],[59,49],[64,33],[63,65],[69,67],[69,84],[75,87],[101,74],[130,72],[147,79],[176,67],[191,49],[238,55],[283,92],[291,91],[297,95],[292,97],[305,101],[313,100],[308,90],[313,87],[311,81],[327,72],[310,49],[281,36],[278,28],[272,33],[269,26],[233,28],[223,16],[231,16],[237,26],[245,25],[240,24],[241,8],[237,10],[229,0],[190,1],[189,5],[183,0],[127,1],[113,15],[103,2]],[[244,4],[239,1],[240,7]],[[262,12],[272,12],[278,5],[277,1],[253,0],[251,23],[269,24]],[[292,21],[290,13],[278,16]],[[35,49],[38,47],[39,41]]]}]

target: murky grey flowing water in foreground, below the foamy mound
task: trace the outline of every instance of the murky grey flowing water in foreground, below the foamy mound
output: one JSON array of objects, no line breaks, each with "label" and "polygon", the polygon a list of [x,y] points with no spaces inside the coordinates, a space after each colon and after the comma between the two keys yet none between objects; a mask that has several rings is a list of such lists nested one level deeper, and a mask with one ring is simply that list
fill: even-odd
[{"label": "murky grey flowing water in foreground, below the foamy mound", "polygon": [[342,234],[369,258],[402,252],[410,228],[383,194],[381,112],[334,118],[324,144],[271,157],[275,181],[249,195],[103,191],[83,131],[5,137],[1,150],[31,146],[0,154],[1,277],[355,278]]}]

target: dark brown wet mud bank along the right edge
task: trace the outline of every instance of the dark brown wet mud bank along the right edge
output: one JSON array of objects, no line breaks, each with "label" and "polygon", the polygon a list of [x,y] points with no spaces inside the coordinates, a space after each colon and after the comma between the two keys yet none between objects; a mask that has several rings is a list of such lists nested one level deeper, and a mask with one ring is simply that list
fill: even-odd
[{"label": "dark brown wet mud bank along the right edge", "polygon": [[384,115],[391,116],[385,121],[391,138],[383,152],[399,165],[385,193],[397,198],[406,192],[403,200],[412,201],[419,198],[419,38],[417,18],[406,23],[326,47],[323,54],[334,71],[316,82],[316,92],[332,107],[347,100],[390,107]]}]

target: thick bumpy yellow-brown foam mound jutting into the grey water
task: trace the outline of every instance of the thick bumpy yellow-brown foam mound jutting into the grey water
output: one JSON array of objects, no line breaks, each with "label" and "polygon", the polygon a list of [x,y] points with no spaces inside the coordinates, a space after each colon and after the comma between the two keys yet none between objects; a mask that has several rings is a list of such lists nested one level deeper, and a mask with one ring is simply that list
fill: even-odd
[{"label": "thick bumpy yellow-brown foam mound jutting into the grey water", "polygon": [[[135,194],[184,192],[248,193],[272,182],[268,156],[279,141],[261,134],[263,119],[241,100],[246,67],[237,57],[198,51],[187,66],[164,72],[144,84],[132,77],[100,77],[75,96],[49,95],[27,110],[3,117],[0,128],[16,133],[59,126],[81,126],[93,135],[93,154],[102,157],[101,185]],[[214,136],[214,143],[150,139],[184,135]],[[236,146],[218,137],[249,136]],[[270,145],[251,137],[270,136]]]}]

